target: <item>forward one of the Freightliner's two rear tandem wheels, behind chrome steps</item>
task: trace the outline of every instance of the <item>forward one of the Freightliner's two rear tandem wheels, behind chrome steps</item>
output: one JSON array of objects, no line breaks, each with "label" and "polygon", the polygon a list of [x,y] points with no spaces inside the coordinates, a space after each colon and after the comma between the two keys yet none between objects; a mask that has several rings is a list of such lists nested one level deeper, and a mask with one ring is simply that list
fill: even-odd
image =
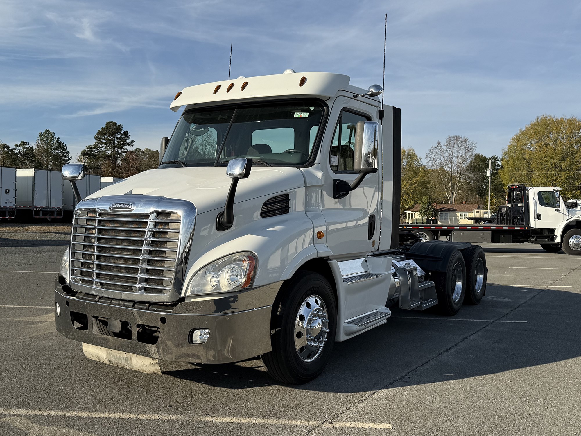
[{"label": "forward one of the Freightliner's two rear tandem wheels, behind chrome steps", "polygon": [[466,264],[462,253],[454,251],[448,259],[445,273],[432,273],[436,285],[438,309],[442,315],[458,313],[466,294]]}]

